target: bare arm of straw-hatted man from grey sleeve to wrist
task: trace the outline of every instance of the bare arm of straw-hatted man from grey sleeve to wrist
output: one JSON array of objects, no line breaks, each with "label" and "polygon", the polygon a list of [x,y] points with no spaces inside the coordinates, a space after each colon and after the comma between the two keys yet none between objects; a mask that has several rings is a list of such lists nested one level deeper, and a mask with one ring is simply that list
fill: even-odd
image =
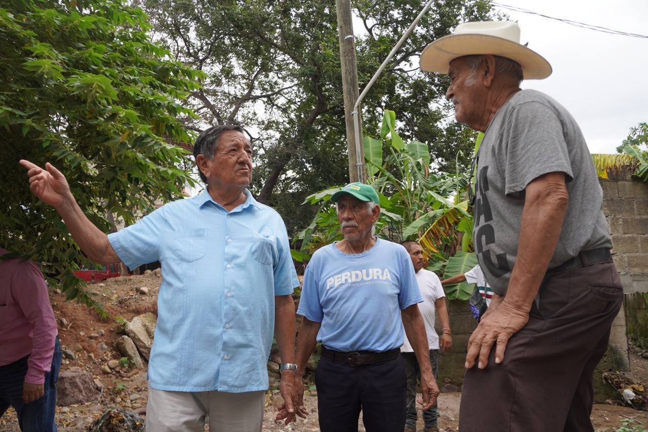
[{"label": "bare arm of straw-hatted man from grey sleeve to wrist", "polygon": [[562,180],[562,187],[560,182],[550,183],[531,197],[527,194],[524,203],[518,253],[504,301],[527,312],[538,294],[567,212],[564,174]]}]

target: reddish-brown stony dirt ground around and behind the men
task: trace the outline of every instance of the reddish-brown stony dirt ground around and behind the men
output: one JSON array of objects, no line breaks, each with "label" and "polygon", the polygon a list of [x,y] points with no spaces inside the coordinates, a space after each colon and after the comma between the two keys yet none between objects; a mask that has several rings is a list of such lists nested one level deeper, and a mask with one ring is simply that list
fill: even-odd
[{"label": "reddish-brown stony dirt ground around and behind the men", "polygon": [[[110,373],[103,372],[101,366],[106,365],[109,360],[119,361],[121,358],[113,342],[121,336],[119,323],[122,320],[130,320],[146,312],[157,313],[156,302],[160,283],[159,276],[146,275],[114,278],[102,284],[89,285],[87,291],[91,291],[110,313],[111,318],[107,320],[101,320],[97,313],[84,305],[65,302],[65,294],[51,292],[50,298],[58,321],[62,347],[71,350],[76,356],[76,359],[64,358],[61,370],[73,367],[85,369],[104,387],[98,403],[57,407],[56,423],[59,431],[86,431],[109,407],[121,406],[140,413],[145,411],[148,396],[146,366],[142,369],[119,366]],[[138,294],[137,289],[140,287],[147,287],[148,294]],[[635,381],[648,383],[648,360],[631,354],[631,368]],[[444,393],[439,396],[439,427],[445,432],[457,430],[459,398],[460,393]],[[296,423],[288,426],[274,421],[275,407],[279,403],[281,396],[276,390],[269,391],[266,396],[264,431],[319,431],[315,392],[305,396],[305,405],[310,413],[307,420],[298,419]],[[143,416],[143,421],[144,419]],[[629,423],[629,426],[642,425],[648,429],[648,412],[617,405],[594,405],[592,423],[596,431],[616,431],[623,422]],[[418,428],[422,431],[420,412]],[[205,430],[209,428],[205,427]],[[365,430],[362,418],[358,430]],[[5,431],[19,431],[16,413],[12,409],[0,418],[0,432]]]}]

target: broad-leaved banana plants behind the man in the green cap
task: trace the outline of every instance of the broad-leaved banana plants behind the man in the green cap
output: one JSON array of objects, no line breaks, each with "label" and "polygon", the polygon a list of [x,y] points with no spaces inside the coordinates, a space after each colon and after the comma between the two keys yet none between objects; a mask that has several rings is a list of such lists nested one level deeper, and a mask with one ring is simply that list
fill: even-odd
[{"label": "broad-leaved banana plants behind the man in the green cap", "polygon": [[[419,141],[404,141],[397,123],[395,112],[384,110],[381,139],[364,138],[367,182],[380,198],[376,233],[391,241],[417,241],[429,267],[437,272],[445,268],[446,278],[467,272],[477,261],[472,252],[472,215],[467,200],[472,173],[430,173],[428,147]],[[481,138],[483,134],[474,151]],[[293,251],[295,259],[308,259],[314,250],[342,239],[336,210],[330,202],[338,190],[340,187],[331,187],[307,197],[306,202],[316,205],[318,213],[297,235],[295,244],[299,243],[300,248]],[[450,300],[467,300],[470,293],[472,285],[467,283],[446,287]]]}]

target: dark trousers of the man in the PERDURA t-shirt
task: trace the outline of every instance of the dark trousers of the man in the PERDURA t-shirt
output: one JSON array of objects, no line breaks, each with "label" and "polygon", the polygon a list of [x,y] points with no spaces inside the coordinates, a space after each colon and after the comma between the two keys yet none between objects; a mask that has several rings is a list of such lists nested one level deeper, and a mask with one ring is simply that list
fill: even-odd
[{"label": "dark trousers of the man in the PERDURA t-shirt", "polygon": [[402,358],[351,366],[321,357],[315,374],[321,432],[400,432],[405,428],[405,368]]}]

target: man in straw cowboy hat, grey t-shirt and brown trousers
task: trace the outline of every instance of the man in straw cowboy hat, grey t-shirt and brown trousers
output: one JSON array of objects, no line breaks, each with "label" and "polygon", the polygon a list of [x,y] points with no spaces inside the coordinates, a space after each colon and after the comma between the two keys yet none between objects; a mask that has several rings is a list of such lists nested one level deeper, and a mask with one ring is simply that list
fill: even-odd
[{"label": "man in straw cowboy hat, grey t-shirt and brown trousers", "polygon": [[515,23],[464,23],[421,54],[422,70],[450,77],[457,121],[485,132],[473,241],[494,296],[469,340],[459,427],[593,431],[592,374],[623,287],[583,134],[520,90],[551,66],[519,41]]}]

